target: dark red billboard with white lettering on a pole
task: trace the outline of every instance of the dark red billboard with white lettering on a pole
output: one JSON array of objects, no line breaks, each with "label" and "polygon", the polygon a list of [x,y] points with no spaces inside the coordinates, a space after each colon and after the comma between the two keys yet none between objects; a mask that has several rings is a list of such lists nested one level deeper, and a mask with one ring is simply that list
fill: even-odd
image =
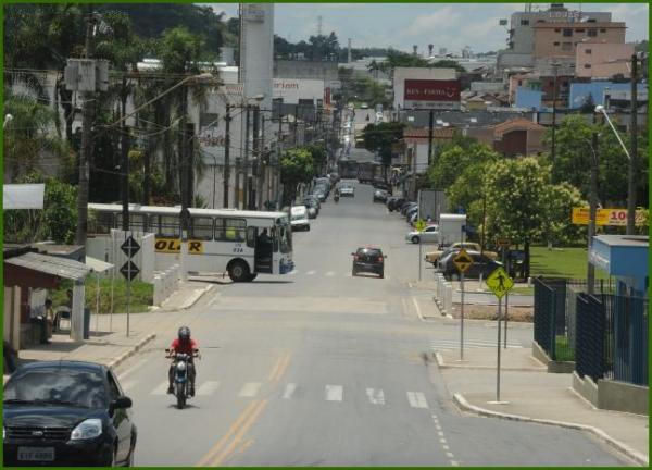
[{"label": "dark red billboard with white lettering on a pole", "polygon": [[460,107],[459,79],[405,79],[404,107],[429,109],[457,109]]}]

